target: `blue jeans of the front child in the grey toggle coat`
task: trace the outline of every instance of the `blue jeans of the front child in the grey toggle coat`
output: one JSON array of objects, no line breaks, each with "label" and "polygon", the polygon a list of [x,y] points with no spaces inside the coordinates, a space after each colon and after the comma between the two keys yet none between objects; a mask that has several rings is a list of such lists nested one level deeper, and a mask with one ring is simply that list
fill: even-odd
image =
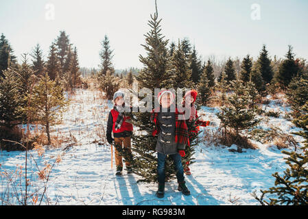
[{"label": "blue jeans of the front child in the grey toggle coat", "polygon": [[[158,183],[165,183],[165,161],[166,156],[163,153],[157,153],[158,158],[158,165],[157,165],[157,171],[158,171]],[[178,182],[184,181],[184,170],[182,167],[181,157],[179,153],[175,153],[173,155],[169,155],[174,160],[174,166],[176,167],[176,179],[178,179]]]}]

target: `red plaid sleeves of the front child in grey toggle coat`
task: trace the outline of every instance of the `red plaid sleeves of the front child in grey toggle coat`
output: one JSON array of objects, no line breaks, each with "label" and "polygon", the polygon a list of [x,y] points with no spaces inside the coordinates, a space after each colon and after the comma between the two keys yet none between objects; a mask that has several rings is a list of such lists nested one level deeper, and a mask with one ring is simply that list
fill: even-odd
[{"label": "red plaid sleeves of the front child in grey toggle coat", "polygon": [[[158,113],[161,112],[161,108],[157,107],[154,110],[152,110],[151,112],[151,116],[150,116],[150,120],[152,121],[152,123],[155,124],[155,128],[152,131],[152,136],[156,136],[159,132],[159,124],[158,124],[158,120],[157,120],[157,116]],[[187,125],[185,122],[185,118],[184,118],[184,113],[183,112],[179,112],[178,108],[176,108],[176,136],[175,136],[175,142],[177,142],[178,144],[182,144],[182,145],[188,145],[190,146],[189,143],[189,138],[188,138],[188,131],[187,131]],[[183,118],[183,119],[179,119],[179,118]]]}]

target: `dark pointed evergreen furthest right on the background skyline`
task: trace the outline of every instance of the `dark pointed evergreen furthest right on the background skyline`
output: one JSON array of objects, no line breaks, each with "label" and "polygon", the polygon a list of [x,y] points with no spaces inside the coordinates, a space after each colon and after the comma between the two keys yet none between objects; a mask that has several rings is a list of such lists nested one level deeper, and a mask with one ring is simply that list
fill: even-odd
[{"label": "dark pointed evergreen furthest right on the background skyline", "polygon": [[289,45],[289,50],[285,57],[286,60],[283,60],[279,66],[279,71],[275,75],[275,81],[281,84],[281,87],[286,89],[293,77],[300,73],[300,68],[296,61],[294,60],[294,53],[292,53],[292,46]]}]

